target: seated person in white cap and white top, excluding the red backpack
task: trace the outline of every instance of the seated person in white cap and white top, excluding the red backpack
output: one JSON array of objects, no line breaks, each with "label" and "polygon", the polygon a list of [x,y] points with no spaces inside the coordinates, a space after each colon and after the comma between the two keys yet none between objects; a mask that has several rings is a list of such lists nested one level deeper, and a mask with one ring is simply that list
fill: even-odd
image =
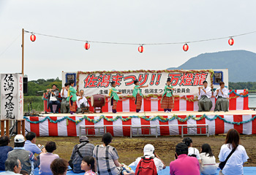
[{"label": "seated person in white cap and white top, excluding the red backpack", "polygon": [[165,169],[165,163],[159,158],[159,156],[154,151],[154,146],[152,144],[146,144],[143,149],[144,156],[139,157],[135,160],[135,162],[129,164],[129,166],[135,166],[138,168],[138,165],[140,164],[141,158],[153,158],[154,165],[157,168],[157,172],[161,171],[162,169]]}]

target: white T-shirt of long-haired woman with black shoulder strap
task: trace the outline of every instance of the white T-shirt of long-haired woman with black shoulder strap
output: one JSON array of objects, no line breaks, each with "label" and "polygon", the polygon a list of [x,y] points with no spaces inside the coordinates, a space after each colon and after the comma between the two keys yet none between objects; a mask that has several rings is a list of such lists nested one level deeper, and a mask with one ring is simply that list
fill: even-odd
[{"label": "white T-shirt of long-haired woman with black shoulder strap", "polygon": [[[232,145],[230,145],[230,148],[227,147],[228,144],[223,144],[220,152],[219,152],[219,161],[224,162],[227,158],[227,155],[230,154],[232,151]],[[244,174],[243,164],[247,162],[247,159],[249,159],[246,150],[243,146],[240,144],[236,148],[236,151],[233,152],[233,154],[230,156],[230,158],[227,160],[227,163],[225,167],[222,169],[222,173],[225,175],[241,175]]]}]

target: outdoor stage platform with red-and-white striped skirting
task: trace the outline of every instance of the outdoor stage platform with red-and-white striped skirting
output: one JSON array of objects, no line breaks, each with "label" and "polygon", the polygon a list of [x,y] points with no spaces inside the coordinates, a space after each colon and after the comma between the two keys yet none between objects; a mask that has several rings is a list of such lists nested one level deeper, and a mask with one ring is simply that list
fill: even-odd
[{"label": "outdoor stage platform with red-and-white striped skirting", "polygon": [[[24,117],[26,131],[33,131],[37,136],[78,136],[80,125],[110,125],[106,130],[113,136],[130,136],[130,125],[158,125],[158,136],[181,135],[181,126],[207,124],[209,134],[227,133],[235,128],[242,134],[256,133],[256,111],[233,110],[230,112],[119,112],[113,114],[42,114],[42,117]],[[161,126],[162,125],[162,126]],[[169,126],[167,126],[169,125]],[[137,129],[132,133],[137,132]],[[140,133],[149,133],[148,128],[139,129]],[[89,129],[89,134],[104,133],[104,129]],[[187,128],[184,128],[187,133]],[[190,129],[190,133],[200,133],[199,128]],[[206,128],[202,129],[206,133]],[[85,131],[82,132],[85,134]],[[156,134],[156,129],[151,129]]]}]

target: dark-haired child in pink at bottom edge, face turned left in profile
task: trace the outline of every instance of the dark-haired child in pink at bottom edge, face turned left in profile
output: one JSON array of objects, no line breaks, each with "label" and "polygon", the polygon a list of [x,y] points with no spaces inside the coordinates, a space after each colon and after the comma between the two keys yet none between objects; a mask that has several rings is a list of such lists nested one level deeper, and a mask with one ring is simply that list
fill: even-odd
[{"label": "dark-haired child in pink at bottom edge, face turned left in profile", "polygon": [[96,175],[94,158],[91,156],[85,156],[81,163],[81,169],[86,171],[84,175]]}]

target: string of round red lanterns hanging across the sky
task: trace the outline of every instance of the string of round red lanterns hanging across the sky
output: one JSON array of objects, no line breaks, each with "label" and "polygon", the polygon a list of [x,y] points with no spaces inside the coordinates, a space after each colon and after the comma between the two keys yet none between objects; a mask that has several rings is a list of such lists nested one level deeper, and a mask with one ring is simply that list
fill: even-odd
[{"label": "string of round red lanterns hanging across the sky", "polygon": [[[31,36],[30,36],[30,40],[31,42],[34,42],[36,40],[36,36],[34,35],[33,32],[31,31],[26,31],[27,33],[31,33]],[[249,32],[249,33],[245,33],[245,34],[238,34],[238,35],[234,35],[234,36],[226,36],[226,37],[222,37],[222,38],[214,38],[214,39],[203,39],[203,40],[197,40],[197,41],[192,41],[192,42],[206,42],[206,41],[211,41],[211,40],[217,40],[217,39],[228,39],[228,44],[230,44],[230,46],[232,46],[234,44],[234,39],[233,37],[235,36],[242,36],[242,35],[246,35],[246,34],[253,34],[253,33],[256,33],[256,31],[252,31],[252,32]],[[42,36],[50,36],[50,37],[55,37],[55,38],[59,38],[59,39],[69,39],[69,40],[73,40],[73,41],[79,41],[79,42],[86,42],[86,44],[84,44],[84,48],[86,50],[89,50],[90,49],[90,43],[89,42],[94,42],[94,41],[84,41],[84,40],[80,40],[80,39],[70,39],[70,38],[64,38],[64,37],[59,37],[59,36],[51,36],[51,35],[46,35],[46,34],[39,34],[39,35],[42,35]],[[183,50],[185,52],[187,52],[187,50],[189,50],[189,45],[188,43],[192,43],[192,42],[169,42],[169,43],[148,43],[148,44],[140,44],[140,46],[138,47],[138,51],[139,52],[143,52],[144,51],[144,47],[143,45],[157,45],[157,44],[184,44],[183,45]],[[137,44],[138,43],[123,43],[123,42],[96,42],[96,43],[102,43],[102,44]]]}]

